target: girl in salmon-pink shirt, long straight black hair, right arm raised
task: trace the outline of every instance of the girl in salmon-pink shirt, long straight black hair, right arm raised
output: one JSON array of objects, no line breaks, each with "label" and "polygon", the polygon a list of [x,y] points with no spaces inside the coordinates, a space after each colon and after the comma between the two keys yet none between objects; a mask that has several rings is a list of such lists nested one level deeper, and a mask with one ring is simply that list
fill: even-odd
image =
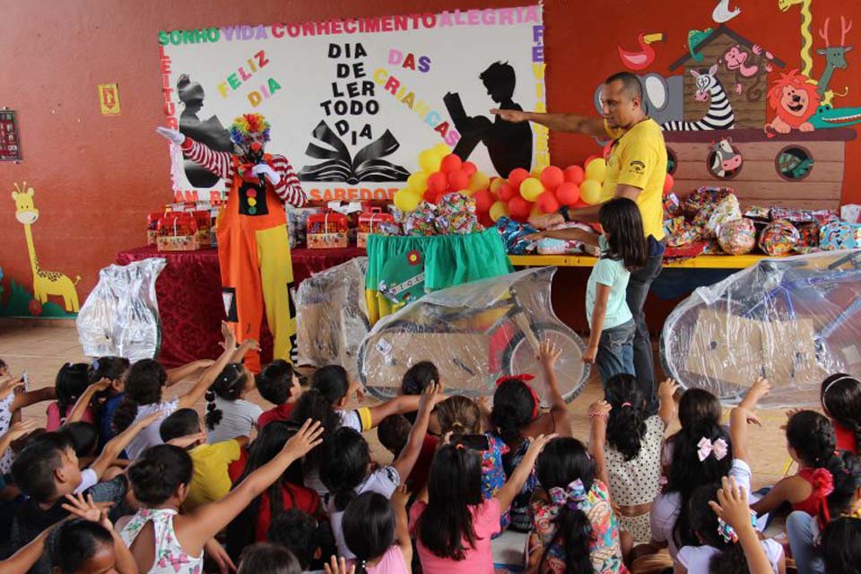
[{"label": "girl in salmon-pink shirt, long straight black hair, right arm raised", "polygon": [[463,445],[443,445],[431,465],[428,487],[410,509],[410,531],[425,574],[491,572],[491,536],[502,513],[523,488],[535,459],[556,435],[539,435],[493,498],[482,496],[482,457]]}]

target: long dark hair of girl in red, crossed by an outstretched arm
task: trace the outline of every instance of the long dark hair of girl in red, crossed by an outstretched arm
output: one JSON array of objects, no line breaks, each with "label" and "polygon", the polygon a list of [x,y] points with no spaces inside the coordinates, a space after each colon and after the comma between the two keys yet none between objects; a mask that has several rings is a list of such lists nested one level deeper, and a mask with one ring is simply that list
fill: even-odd
[{"label": "long dark hair of girl in red, crossed by an outstretched arm", "polygon": [[[254,439],[254,442],[251,443],[250,448],[248,448],[248,461],[246,462],[245,470],[236,480],[235,484],[239,485],[239,483],[248,478],[248,474],[253,473],[276,457],[284,448],[284,444],[296,434],[296,431],[296,425],[290,422],[274,421],[267,424],[257,435],[257,439]],[[304,483],[300,460],[294,461],[288,466],[287,470],[281,475],[281,478],[270,484],[265,490],[266,494],[269,495],[269,516],[272,519],[284,511],[283,491],[287,491],[288,496],[290,496],[291,507],[296,506],[296,499],[291,489],[283,488],[285,483],[296,484],[298,486]],[[238,558],[243,548],[248,546],[248,544],[254,543],[257,516],[260,514],[261,496],[252,500],[227,526],[227,550],[231,557]]]}]

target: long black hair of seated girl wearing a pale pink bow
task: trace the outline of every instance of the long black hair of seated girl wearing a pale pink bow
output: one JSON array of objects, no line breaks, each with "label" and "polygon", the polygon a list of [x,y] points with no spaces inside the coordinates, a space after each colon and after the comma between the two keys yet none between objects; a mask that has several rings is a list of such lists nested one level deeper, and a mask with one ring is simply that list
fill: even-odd
[{"label": "long black hair of seated girl wearing a pale pink bow", "polygon": [[[700,461],[701,439],[714,443],[718,439],[726,442],[726,456],[718,460],[714,453]],[[673,463],[664,489],[665,493],[678,492],[680,500],[679,517],[673,526],[673,539],[677,548],[686,544],[699,544],[691,530],[689,516],[690,500],[698,487],[710,485],[717,487],[720,479],[729,474],[733,467],[733,444],[729,433],[713,421],[693,422],[675,435],[673,442]]]}]

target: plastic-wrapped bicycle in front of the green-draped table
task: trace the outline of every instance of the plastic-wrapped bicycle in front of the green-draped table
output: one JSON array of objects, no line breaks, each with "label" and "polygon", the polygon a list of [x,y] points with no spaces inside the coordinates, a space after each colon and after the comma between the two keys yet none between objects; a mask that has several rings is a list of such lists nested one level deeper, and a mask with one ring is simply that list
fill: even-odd
[{"label": "plastic-wrapped bicycle in front of the green-draped table", "polygon": [[433,291],[381,319],[361,343],[359,377],[379,397],[395,396],[404,372],[433,361],[448,392],[490,396],[503,375],[536,376],[535,391],[550,404],[537,344],[561,347],[556,373],[570,401],[586,384],[585,344],[553,313],[555,267],[527,269]]}]

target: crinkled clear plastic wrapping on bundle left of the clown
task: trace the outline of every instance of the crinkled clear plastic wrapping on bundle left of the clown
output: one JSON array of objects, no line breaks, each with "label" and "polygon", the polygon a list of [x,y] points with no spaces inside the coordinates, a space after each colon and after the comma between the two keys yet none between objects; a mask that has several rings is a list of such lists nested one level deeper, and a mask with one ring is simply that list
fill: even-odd
[{"label": "crinkled clear plastic wrapping on bundle left of the clown", "polygon": [[165,265],[167,260],[152,257],[99,272],[99,283],[75,320],[85,355],[114,355],[132,362],[158,355],[161,321],[155,281]]}]

